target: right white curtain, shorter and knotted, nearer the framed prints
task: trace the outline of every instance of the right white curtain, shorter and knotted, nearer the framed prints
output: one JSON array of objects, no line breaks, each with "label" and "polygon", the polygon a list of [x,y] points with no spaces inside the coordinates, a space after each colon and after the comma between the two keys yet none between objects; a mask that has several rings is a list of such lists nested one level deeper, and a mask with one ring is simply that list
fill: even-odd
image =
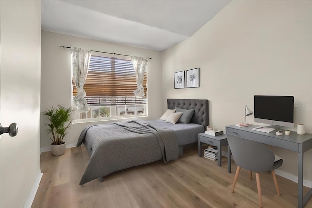
[{"label": "right white curtain, shorter and knotted, nearer the framed prints", "polygon": [[133,91],[133,94],[136,97],[142,98],[145,95],[142,83],[149,58],[131,56],[131,59],[137,76],[137,89]]}]

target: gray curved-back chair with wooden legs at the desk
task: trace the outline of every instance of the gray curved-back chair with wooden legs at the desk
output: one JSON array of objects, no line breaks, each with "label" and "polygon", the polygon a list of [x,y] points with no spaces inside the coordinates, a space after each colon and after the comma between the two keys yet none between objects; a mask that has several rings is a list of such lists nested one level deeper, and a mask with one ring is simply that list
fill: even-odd
[{"label": "gray curved-back chair with wooden legs at the desk", "polygon": [[272,172],[276,192],[277,195],[280,196],[279,187],[277,184],[274,170],[282,166],[283,160],[280,158],[278,158],[278,160],[275,160],[275,155],[273,154],[273,152],[260,142],[244,139],[232,134],[227,134],[227,138],[233,155],[233,159],[237,164],[232,193],[234,193],[234,188],[238,179],[240,169],[244,168],[250,171],[250,180],[252,171],[256,172],[260,208],[262,208],[262,196],[261,196],[261,185],[259,174],[260,172],[268,172],[268,171]]}]

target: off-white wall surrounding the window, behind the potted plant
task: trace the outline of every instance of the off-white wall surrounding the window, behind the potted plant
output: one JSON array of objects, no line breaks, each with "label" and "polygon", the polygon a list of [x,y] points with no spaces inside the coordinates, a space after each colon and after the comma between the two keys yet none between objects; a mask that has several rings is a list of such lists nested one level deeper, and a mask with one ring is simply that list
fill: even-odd
[{"label": "off-white wall surrounding the window, behind the potted plant", "polygon": [[[161,53],[109,42],[42,31],[41,34],[41,111],[52,105],[71,105],[71,52],[60,46],[80,47],[95,51],[150,57],[148,62],[148,114],[144,119],[159,118],[162,115],[161,100]],[[102,54],[110,56],[110,54]],[[50,148],[51,142],[45,132],[46,119],[41,117],[41,149]],[[76,144],[80,132],[88,125],[107,123],[92,122],[72,124],[65,137],[67,145]]]}]

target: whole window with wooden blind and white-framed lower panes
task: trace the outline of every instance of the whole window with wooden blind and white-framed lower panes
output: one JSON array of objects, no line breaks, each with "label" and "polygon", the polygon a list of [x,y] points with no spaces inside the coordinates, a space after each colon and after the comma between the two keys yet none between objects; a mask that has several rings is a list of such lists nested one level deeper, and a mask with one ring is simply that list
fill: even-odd
[{"label": "whole window with wooden blind and white-framed lower panes", "polygon": [[[131,60],[91,56],[84,84],[90,111],[75,115],[75,119],[113,119],[146,115],[147,74],[143,87],[145,96],[137,98],[137,78]],[[73,79],[73,96],[77,94]]]}]

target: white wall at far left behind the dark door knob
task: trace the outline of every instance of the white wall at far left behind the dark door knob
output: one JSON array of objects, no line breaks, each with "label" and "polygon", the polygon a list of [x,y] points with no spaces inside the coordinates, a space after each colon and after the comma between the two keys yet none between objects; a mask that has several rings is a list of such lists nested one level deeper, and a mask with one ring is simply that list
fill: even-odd
[{"label": "white wall at far left behind the dark door knob", "polygon": [[1,138],[0,207],[21,208],[40,175],[41,2],[0,4],[1,123],[19,125],[17,136]]}]

